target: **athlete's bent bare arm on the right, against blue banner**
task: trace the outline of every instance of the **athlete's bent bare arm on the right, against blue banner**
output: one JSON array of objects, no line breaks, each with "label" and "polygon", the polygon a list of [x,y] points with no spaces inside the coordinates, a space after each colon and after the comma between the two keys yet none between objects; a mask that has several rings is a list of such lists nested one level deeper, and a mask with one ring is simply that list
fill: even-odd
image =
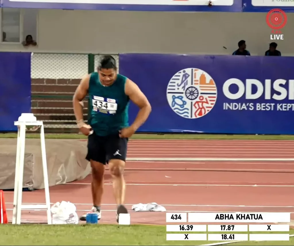
[{"label": "athlete's bent bare arm on the right, against blue banner", "polygon": [[149,114],[151,113],[151,105],[147,97],[143,94],[140,88],[130,79],[127,79],[125,85],[125,93],[129,96],[131,101],[139,107],[139,112],[131,128],[134,132],[147,120]]}]

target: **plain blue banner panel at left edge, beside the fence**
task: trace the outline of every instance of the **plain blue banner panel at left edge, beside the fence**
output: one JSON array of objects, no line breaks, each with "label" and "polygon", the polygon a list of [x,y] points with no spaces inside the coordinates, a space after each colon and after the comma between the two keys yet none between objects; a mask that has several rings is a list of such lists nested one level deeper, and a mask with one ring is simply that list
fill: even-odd
[{"label": "plain blue banner panel at left edge, beside the fence", "polygon": [[0,52],[0,132],[17,131],[14,121],[31,112],[31,53]]}]

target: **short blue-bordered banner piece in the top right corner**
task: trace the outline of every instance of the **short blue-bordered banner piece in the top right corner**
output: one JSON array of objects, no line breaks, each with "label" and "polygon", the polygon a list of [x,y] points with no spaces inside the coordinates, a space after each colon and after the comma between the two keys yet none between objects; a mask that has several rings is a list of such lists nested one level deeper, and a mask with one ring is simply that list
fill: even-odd
[{"label": "short blue-bordered banner piece in the top right corner", "polygon": [[294,12],[294,4],[284,0],[243,0],[243,12],[268,12],[272,9]]}]

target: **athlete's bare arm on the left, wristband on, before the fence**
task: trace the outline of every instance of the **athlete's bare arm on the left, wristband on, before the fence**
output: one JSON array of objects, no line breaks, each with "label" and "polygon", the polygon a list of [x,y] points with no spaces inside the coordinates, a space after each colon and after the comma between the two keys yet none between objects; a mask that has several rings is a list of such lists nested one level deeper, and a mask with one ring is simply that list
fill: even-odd
[{"label": "athlete's bare arm on the left, wristband on, before the fence", "polygon": [[74,107],[74,115],[76,117],[76,122],[78,127],[81,129],[81,132],[85,135],[90,132],[89,130],[82,128],[91,128],[88,127],[83,121],[83,104],[82,101],[86,97],[89,89],[89,81],[90,74],[85,75],[82,79],[78,87],[76,88],[76,92],[73,97],[73,107]]}]

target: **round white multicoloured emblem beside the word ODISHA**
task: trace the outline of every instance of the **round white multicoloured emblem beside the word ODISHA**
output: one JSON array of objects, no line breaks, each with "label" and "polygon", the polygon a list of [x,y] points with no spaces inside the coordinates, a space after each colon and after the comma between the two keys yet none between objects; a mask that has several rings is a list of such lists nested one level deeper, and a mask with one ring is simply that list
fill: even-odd
[{"label": "round white multicoloured emblem beside the word ODISHA", "polygon": [[186,68],[168,82],[166,97],[169,106],[181,117],[200,118],[216,104],[216,84],[207,72]]}]

